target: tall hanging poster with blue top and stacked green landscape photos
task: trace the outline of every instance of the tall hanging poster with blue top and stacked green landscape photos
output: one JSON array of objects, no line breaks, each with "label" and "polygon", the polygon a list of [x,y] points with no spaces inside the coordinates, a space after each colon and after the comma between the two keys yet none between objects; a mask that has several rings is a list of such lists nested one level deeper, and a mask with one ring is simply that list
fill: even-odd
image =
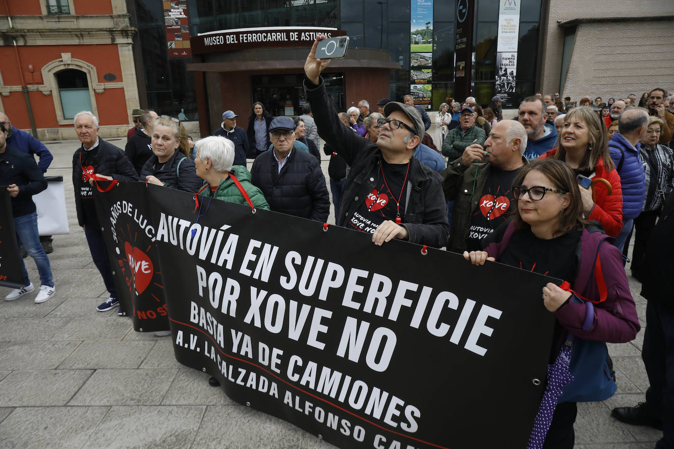
[{"label": "tall hanging poster with blue top and stacked green landscape photos", "polygon": [[410,94],[415,106],[432,107],[433,0],[410,4]]}]

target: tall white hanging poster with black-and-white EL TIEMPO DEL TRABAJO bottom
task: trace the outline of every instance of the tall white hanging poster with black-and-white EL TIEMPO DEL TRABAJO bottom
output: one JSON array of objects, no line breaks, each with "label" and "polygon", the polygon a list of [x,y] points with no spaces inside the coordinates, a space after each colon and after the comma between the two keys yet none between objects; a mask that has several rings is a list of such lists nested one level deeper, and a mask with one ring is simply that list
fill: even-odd
[{"label": "tall white hanging poster with black-and-white EL TIEMPO DEL TRABAJO bottom", "polygon": [[517,47],[520,38],[520,1],[504,0],[499,3],[494,94],[501,98],[503,107],[511,108],[519,102],[515,95],[515,85]]}]

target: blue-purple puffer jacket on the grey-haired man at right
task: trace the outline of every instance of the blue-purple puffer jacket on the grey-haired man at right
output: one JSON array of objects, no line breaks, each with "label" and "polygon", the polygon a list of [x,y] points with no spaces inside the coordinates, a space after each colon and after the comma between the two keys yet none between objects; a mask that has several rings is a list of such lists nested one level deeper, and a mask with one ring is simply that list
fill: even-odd
[{"label": "blue-purple puffer jacket on the grey-haired man at right", "polygon": [[623,222],[636,218],[644,207],[646,174],[639,158],[640,146],[641,144],[637,143],[635,149],[620,133],[613,133],[609,141],[611,159],[618,169],[623,189]]}]

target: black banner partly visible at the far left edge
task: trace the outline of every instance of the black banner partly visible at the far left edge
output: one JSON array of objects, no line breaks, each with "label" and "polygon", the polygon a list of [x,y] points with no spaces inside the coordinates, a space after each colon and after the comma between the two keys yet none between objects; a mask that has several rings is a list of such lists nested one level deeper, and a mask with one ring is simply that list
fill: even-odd
[{"label": "black banner partly visible at the far left edge", "polygon": [[0,285],[21,288],[25,283],[24,273],[7,186],[0,186],[0,217]]}]

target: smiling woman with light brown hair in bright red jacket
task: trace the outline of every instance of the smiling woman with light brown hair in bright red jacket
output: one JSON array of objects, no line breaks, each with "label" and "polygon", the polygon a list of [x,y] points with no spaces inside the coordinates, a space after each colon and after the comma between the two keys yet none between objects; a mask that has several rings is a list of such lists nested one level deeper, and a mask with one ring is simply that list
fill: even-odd
[{"label": "smiling woman with light brown hair in bright red jacket", "polygon": [[[623,227],[623,193],[620,176],[609,155],[606,127],[591,108],[579,106],[564,116],[558,139],[557,148],[541,158],[562,160],[577,175],[594,181],[592,188],[578,185],[583,215],[585,219],[599,221],[606,234],[616,237]],[[596,182],[597,179],[609,182],[611,189],[603,182]]]}]

